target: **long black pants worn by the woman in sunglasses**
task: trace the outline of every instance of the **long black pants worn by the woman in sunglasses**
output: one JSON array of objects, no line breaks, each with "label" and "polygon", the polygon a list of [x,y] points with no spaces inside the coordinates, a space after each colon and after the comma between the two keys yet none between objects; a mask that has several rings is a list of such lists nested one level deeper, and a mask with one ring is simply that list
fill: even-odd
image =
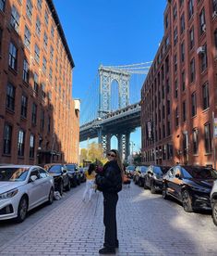
[{"label": "long black pants worn by the woman in sunglasses", "polygon": [[104,247],[115,248],[118,245],[116,230],[116,203],[118,200],[117,193],[103,193],[103,223],[105,226]]}]

